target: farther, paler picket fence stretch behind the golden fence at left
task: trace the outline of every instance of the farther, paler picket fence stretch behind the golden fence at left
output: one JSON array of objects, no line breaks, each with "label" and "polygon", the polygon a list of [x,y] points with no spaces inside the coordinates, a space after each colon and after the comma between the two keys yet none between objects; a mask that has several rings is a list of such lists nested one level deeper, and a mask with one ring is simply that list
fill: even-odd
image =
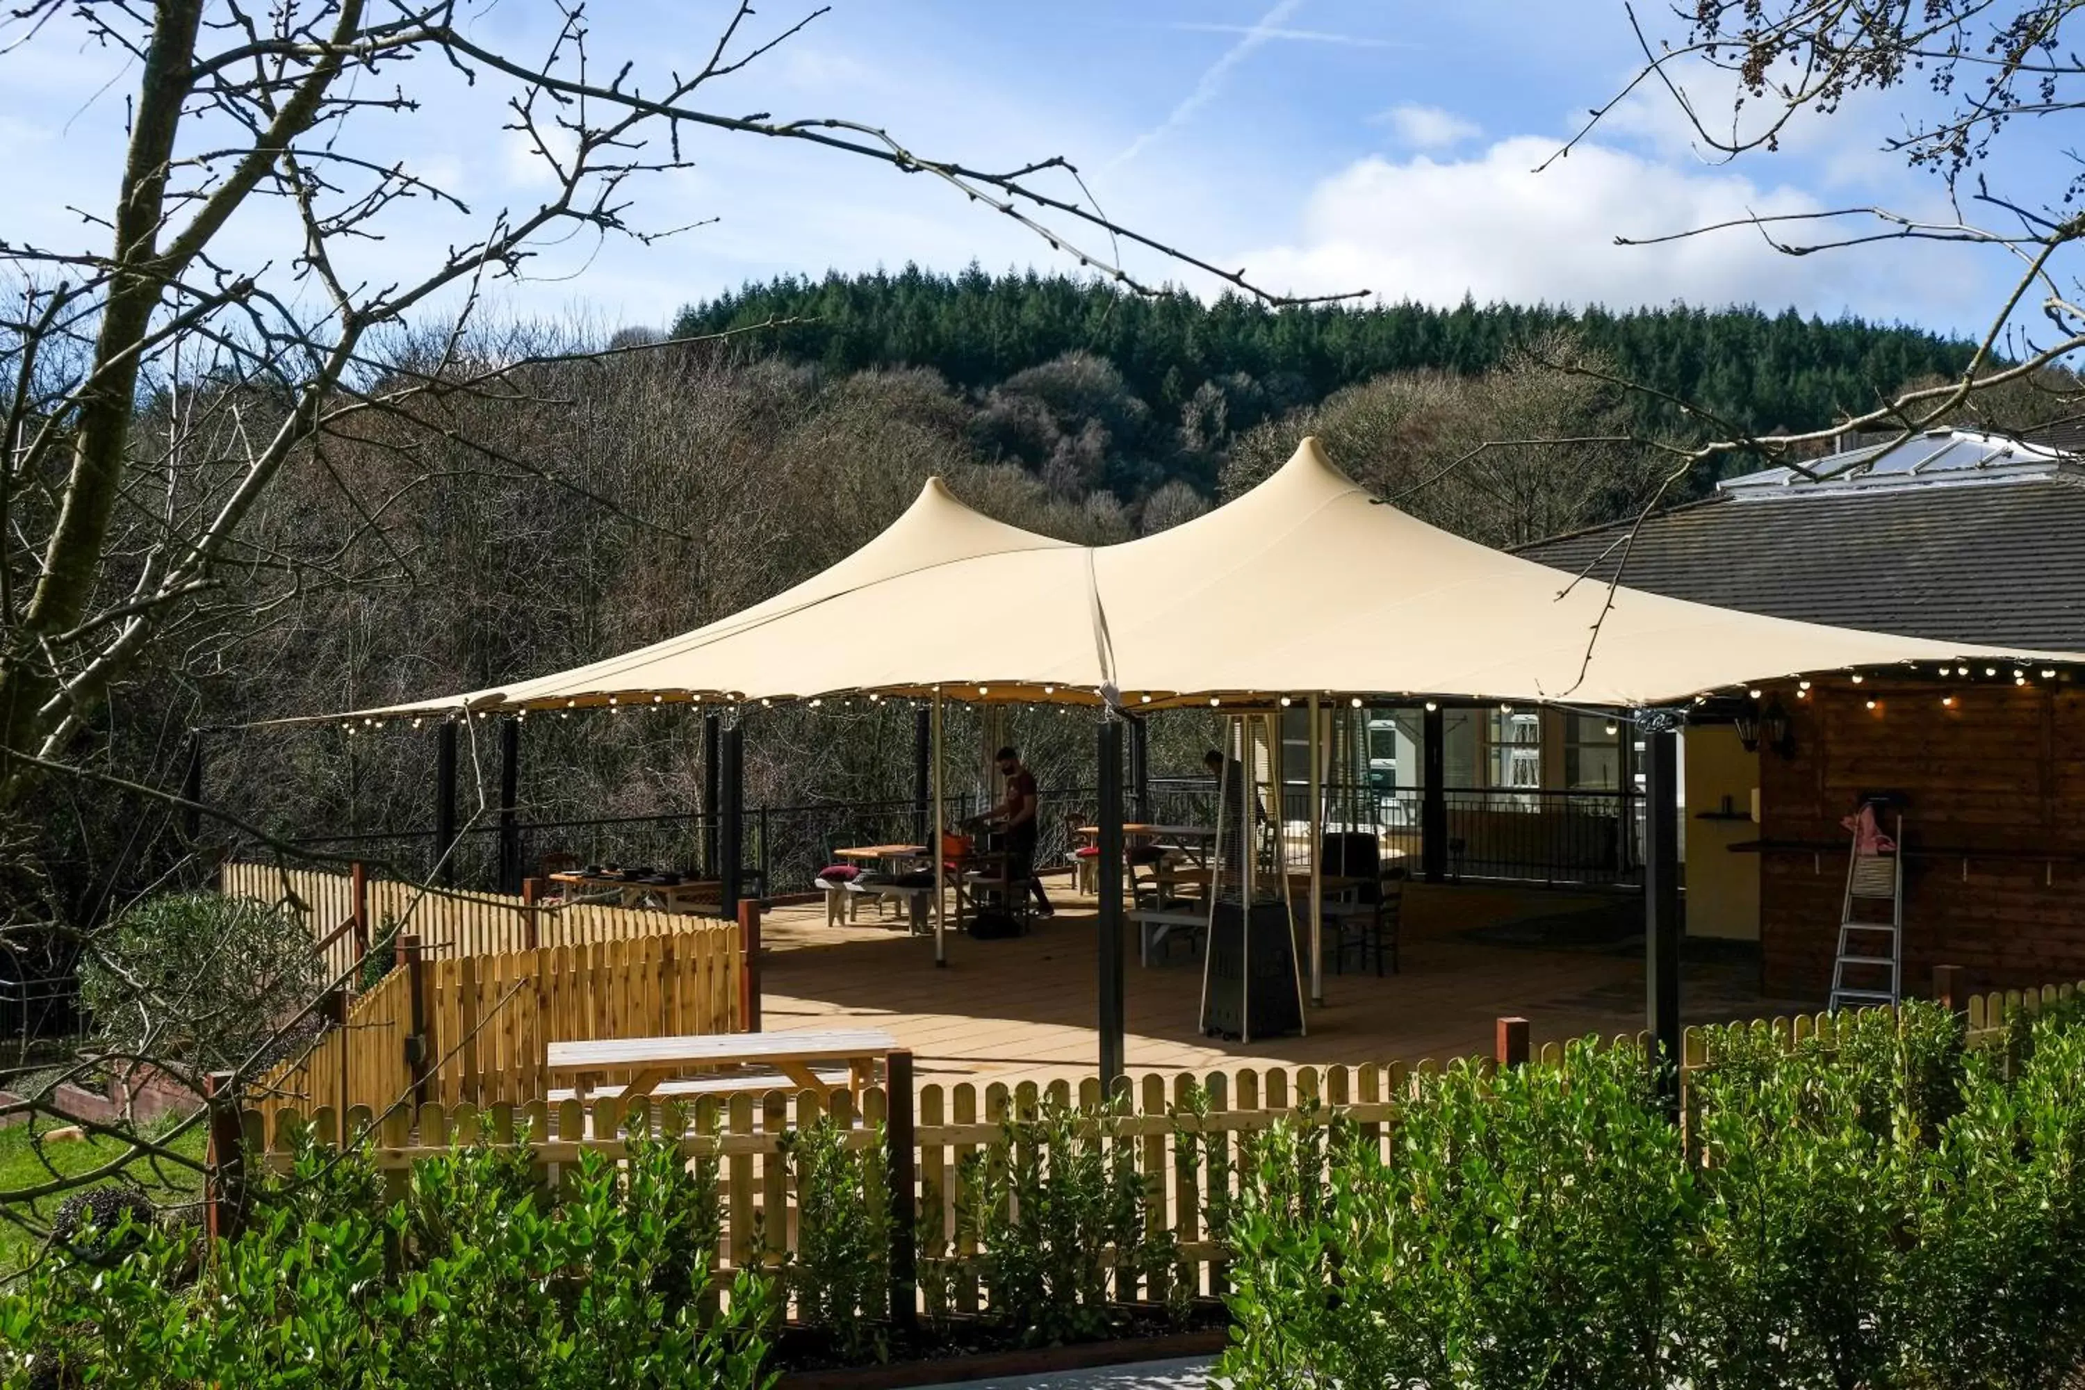
[{"label": "farther, paler picket fence stretch behind the golden fence at left", "polygon": [[240,861],[223,865],[219,888],[302,913],[334,979],[346,979],[388,927],[417,936],[432,952],[482,957],[671,936],[707,921],[607,902],[530,902],[498,892]]}]

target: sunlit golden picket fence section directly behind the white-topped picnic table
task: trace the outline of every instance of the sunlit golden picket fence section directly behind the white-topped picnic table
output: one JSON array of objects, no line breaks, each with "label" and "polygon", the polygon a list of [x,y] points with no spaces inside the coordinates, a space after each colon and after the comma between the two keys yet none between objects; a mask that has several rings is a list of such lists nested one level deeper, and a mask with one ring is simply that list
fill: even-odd
[{"label": "sunlit golden picket fence section directly behind the white-topped picnic table", "polygon": [[[746,1027],[736,925],[584,946],[409,957],[248,1094],[288,1111],[386,1113],[400,1102],[517,1104],[550,1090],[550,1042]],[[628,1079],[615,1075],[615,1082]]]}]

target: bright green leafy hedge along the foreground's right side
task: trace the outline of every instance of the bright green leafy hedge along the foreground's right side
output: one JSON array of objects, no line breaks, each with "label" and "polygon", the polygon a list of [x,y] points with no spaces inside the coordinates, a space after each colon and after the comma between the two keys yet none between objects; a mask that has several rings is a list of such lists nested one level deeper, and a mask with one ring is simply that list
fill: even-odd
[{"label": "bright green leafy hedge along the foreground's right side", "polygon": [[2062,1386],[2085,1361],[2085,1029],[1927,1004],[1714,1029],[1668,1123],[1633,1050],[1422,1075],[1384,1157],[1280,1125],[1230,1238],[1257,1386]]}]

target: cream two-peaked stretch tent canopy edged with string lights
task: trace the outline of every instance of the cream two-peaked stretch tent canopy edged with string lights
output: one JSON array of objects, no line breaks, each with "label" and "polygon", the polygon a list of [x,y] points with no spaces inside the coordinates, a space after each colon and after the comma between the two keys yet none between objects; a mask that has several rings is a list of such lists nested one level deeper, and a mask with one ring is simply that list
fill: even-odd
[{"label": "cream two-peaked stretch tent canopy edged with string lights", "polygon": [[354,717],[936,688],[1132,711],[1305,692],[1649,706],[1960,659],[2085,661],[1576,584],[1376,502],[1303,440],[1230,504],[1099,548],[982,517],[932,479],[867,546],[728,619],[557,675]]}]

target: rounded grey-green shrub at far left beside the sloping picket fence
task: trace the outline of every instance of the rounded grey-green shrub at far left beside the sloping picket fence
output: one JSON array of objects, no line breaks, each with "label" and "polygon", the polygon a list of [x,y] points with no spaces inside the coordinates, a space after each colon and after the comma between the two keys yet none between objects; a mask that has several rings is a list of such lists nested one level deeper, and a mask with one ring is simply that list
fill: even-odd
[{"label": "rounded grey-green shrub at far left beside the sloping picket fence", "polygon": [[246,1065],[323,979],[302,919],[256,898],[148,898],[94,936],[79,998],[115,1052],[194,1071]]}]

